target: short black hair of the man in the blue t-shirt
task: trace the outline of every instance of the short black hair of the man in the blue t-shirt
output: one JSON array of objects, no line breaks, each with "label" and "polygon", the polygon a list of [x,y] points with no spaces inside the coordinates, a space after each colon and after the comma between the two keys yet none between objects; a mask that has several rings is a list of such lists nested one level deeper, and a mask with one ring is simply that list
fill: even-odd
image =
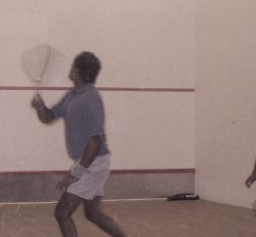
[{"label": "short black hair of the man in the blue t-shirt", "polygon": [[74,65],[79,69],[84,82],[95,82],[101,71],[101,61],[92,52],[82,52],[75,60]]}]

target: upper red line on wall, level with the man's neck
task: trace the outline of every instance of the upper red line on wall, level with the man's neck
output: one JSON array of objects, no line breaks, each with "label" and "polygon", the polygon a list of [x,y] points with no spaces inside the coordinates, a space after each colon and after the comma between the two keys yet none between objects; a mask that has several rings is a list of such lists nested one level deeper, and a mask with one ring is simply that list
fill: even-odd
[{"label": "upper red line on wall, level with the man's neck", "polygon": [[[34,86],[0,86],[0,90],[69,90],[72,87],[39,87]],[[98,87],[101,91],[138,91],[138,92],[193,92],[193,88],[133,88],[133,87]]]}]

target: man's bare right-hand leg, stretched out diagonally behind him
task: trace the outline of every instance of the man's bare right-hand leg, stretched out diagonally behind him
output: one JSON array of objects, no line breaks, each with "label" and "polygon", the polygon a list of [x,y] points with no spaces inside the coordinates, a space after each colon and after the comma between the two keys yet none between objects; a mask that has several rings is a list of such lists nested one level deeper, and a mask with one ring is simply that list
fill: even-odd
[{"label": "man's bare right-hand leg, stretched out diagonally behind him", "polygon": [[127,236],[114,220],[101,211],[101,196],[96,196],[93,200],[84,200],[84,208],[86,218],[111,236]]}]

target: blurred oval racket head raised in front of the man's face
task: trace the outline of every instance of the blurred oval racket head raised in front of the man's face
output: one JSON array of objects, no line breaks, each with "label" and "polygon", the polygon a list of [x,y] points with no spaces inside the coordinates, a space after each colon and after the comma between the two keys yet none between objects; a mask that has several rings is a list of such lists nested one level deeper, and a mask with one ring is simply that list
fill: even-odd
[{"label": "blurred oval racket head raised in front of the man's face", "polygon": [[36,46],[22,55],[22,69],[27,79],[36,86],[42,83],[50,57],[51,47],[47,45]]}]

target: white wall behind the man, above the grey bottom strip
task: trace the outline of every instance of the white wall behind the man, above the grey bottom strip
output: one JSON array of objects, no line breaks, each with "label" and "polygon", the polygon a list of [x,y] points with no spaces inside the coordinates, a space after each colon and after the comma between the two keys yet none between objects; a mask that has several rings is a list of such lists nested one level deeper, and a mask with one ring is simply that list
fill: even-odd
[{"label": "white wall behind the man, above the grey bottom strip", "polygon": [[[46,86],[70,86],[69,65],[95,52],[97,86],[193,88],[192,0],[9,0],[0,3],[1,172],[69,168],[62,121],[41,124],[20,68],[22,53],[47,43],[63,64]],[[64,91],[44,91],[48,105]],[[193,93],[101,91],[113,169],[194,167]]]}]

